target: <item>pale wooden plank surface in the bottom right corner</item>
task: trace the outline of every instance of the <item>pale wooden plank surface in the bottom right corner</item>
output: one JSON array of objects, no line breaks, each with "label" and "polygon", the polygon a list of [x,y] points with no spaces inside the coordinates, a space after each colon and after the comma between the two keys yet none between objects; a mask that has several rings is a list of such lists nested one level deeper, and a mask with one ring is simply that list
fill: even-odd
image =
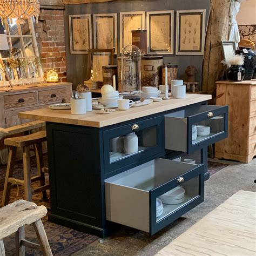
[{"label": "pale wooden plank surface in the bottom right corner", "polygon": [[238,191],[156,255],[256,255],[256,193]]}]

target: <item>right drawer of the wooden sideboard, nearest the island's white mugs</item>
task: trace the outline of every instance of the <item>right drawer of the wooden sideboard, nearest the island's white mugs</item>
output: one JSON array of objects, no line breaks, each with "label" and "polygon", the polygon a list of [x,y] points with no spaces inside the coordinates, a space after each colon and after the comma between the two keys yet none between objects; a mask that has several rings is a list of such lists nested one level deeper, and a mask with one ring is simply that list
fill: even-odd
[{"label": "right drawer of the wooden sideboard, nearest the island's white mugs", "polygon": [[38,92],[39,104],[62,102],[66,96],[66,87]]}]

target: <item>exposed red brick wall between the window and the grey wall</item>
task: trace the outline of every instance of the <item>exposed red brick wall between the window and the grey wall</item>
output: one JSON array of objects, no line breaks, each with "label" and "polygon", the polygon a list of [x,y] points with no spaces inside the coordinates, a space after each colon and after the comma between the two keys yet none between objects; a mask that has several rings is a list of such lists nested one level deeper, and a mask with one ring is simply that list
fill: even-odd
[{"label": "exposed red brick wall between the window and the grey wall", "polygon": [[35,24],[38,50],[44,71],[54,68],[59,79],[66,81],[66,51],[64,35],[64,11],[40,10]]}]

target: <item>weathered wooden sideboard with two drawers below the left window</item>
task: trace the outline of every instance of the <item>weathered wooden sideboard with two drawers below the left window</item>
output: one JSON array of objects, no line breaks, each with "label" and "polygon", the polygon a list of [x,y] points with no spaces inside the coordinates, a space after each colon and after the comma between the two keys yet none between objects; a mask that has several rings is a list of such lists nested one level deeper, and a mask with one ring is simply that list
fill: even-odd
[{"label": "weathered wooden sideboard with two drawers below the left window", "polygon": [[[72,83],[30,84],[0,88],[0,127],[6,128],[30,122],[18,117],[19,112],[42,109],[61,103],[64,97],[71,98]],[[7,162],[7,150],[0,144],[0,164]]]}]

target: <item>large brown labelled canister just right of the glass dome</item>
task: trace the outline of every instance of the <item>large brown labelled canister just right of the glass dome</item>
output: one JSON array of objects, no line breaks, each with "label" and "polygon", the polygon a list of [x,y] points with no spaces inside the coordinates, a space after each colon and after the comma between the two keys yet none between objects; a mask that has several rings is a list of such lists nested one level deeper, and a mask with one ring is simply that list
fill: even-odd
[{"label": "large brown labelled canister just right of the glass dome", "polygon": [[157,87],[160,82],[159,71],[163,65],[163,56],[142,57],[142,86]]}]

